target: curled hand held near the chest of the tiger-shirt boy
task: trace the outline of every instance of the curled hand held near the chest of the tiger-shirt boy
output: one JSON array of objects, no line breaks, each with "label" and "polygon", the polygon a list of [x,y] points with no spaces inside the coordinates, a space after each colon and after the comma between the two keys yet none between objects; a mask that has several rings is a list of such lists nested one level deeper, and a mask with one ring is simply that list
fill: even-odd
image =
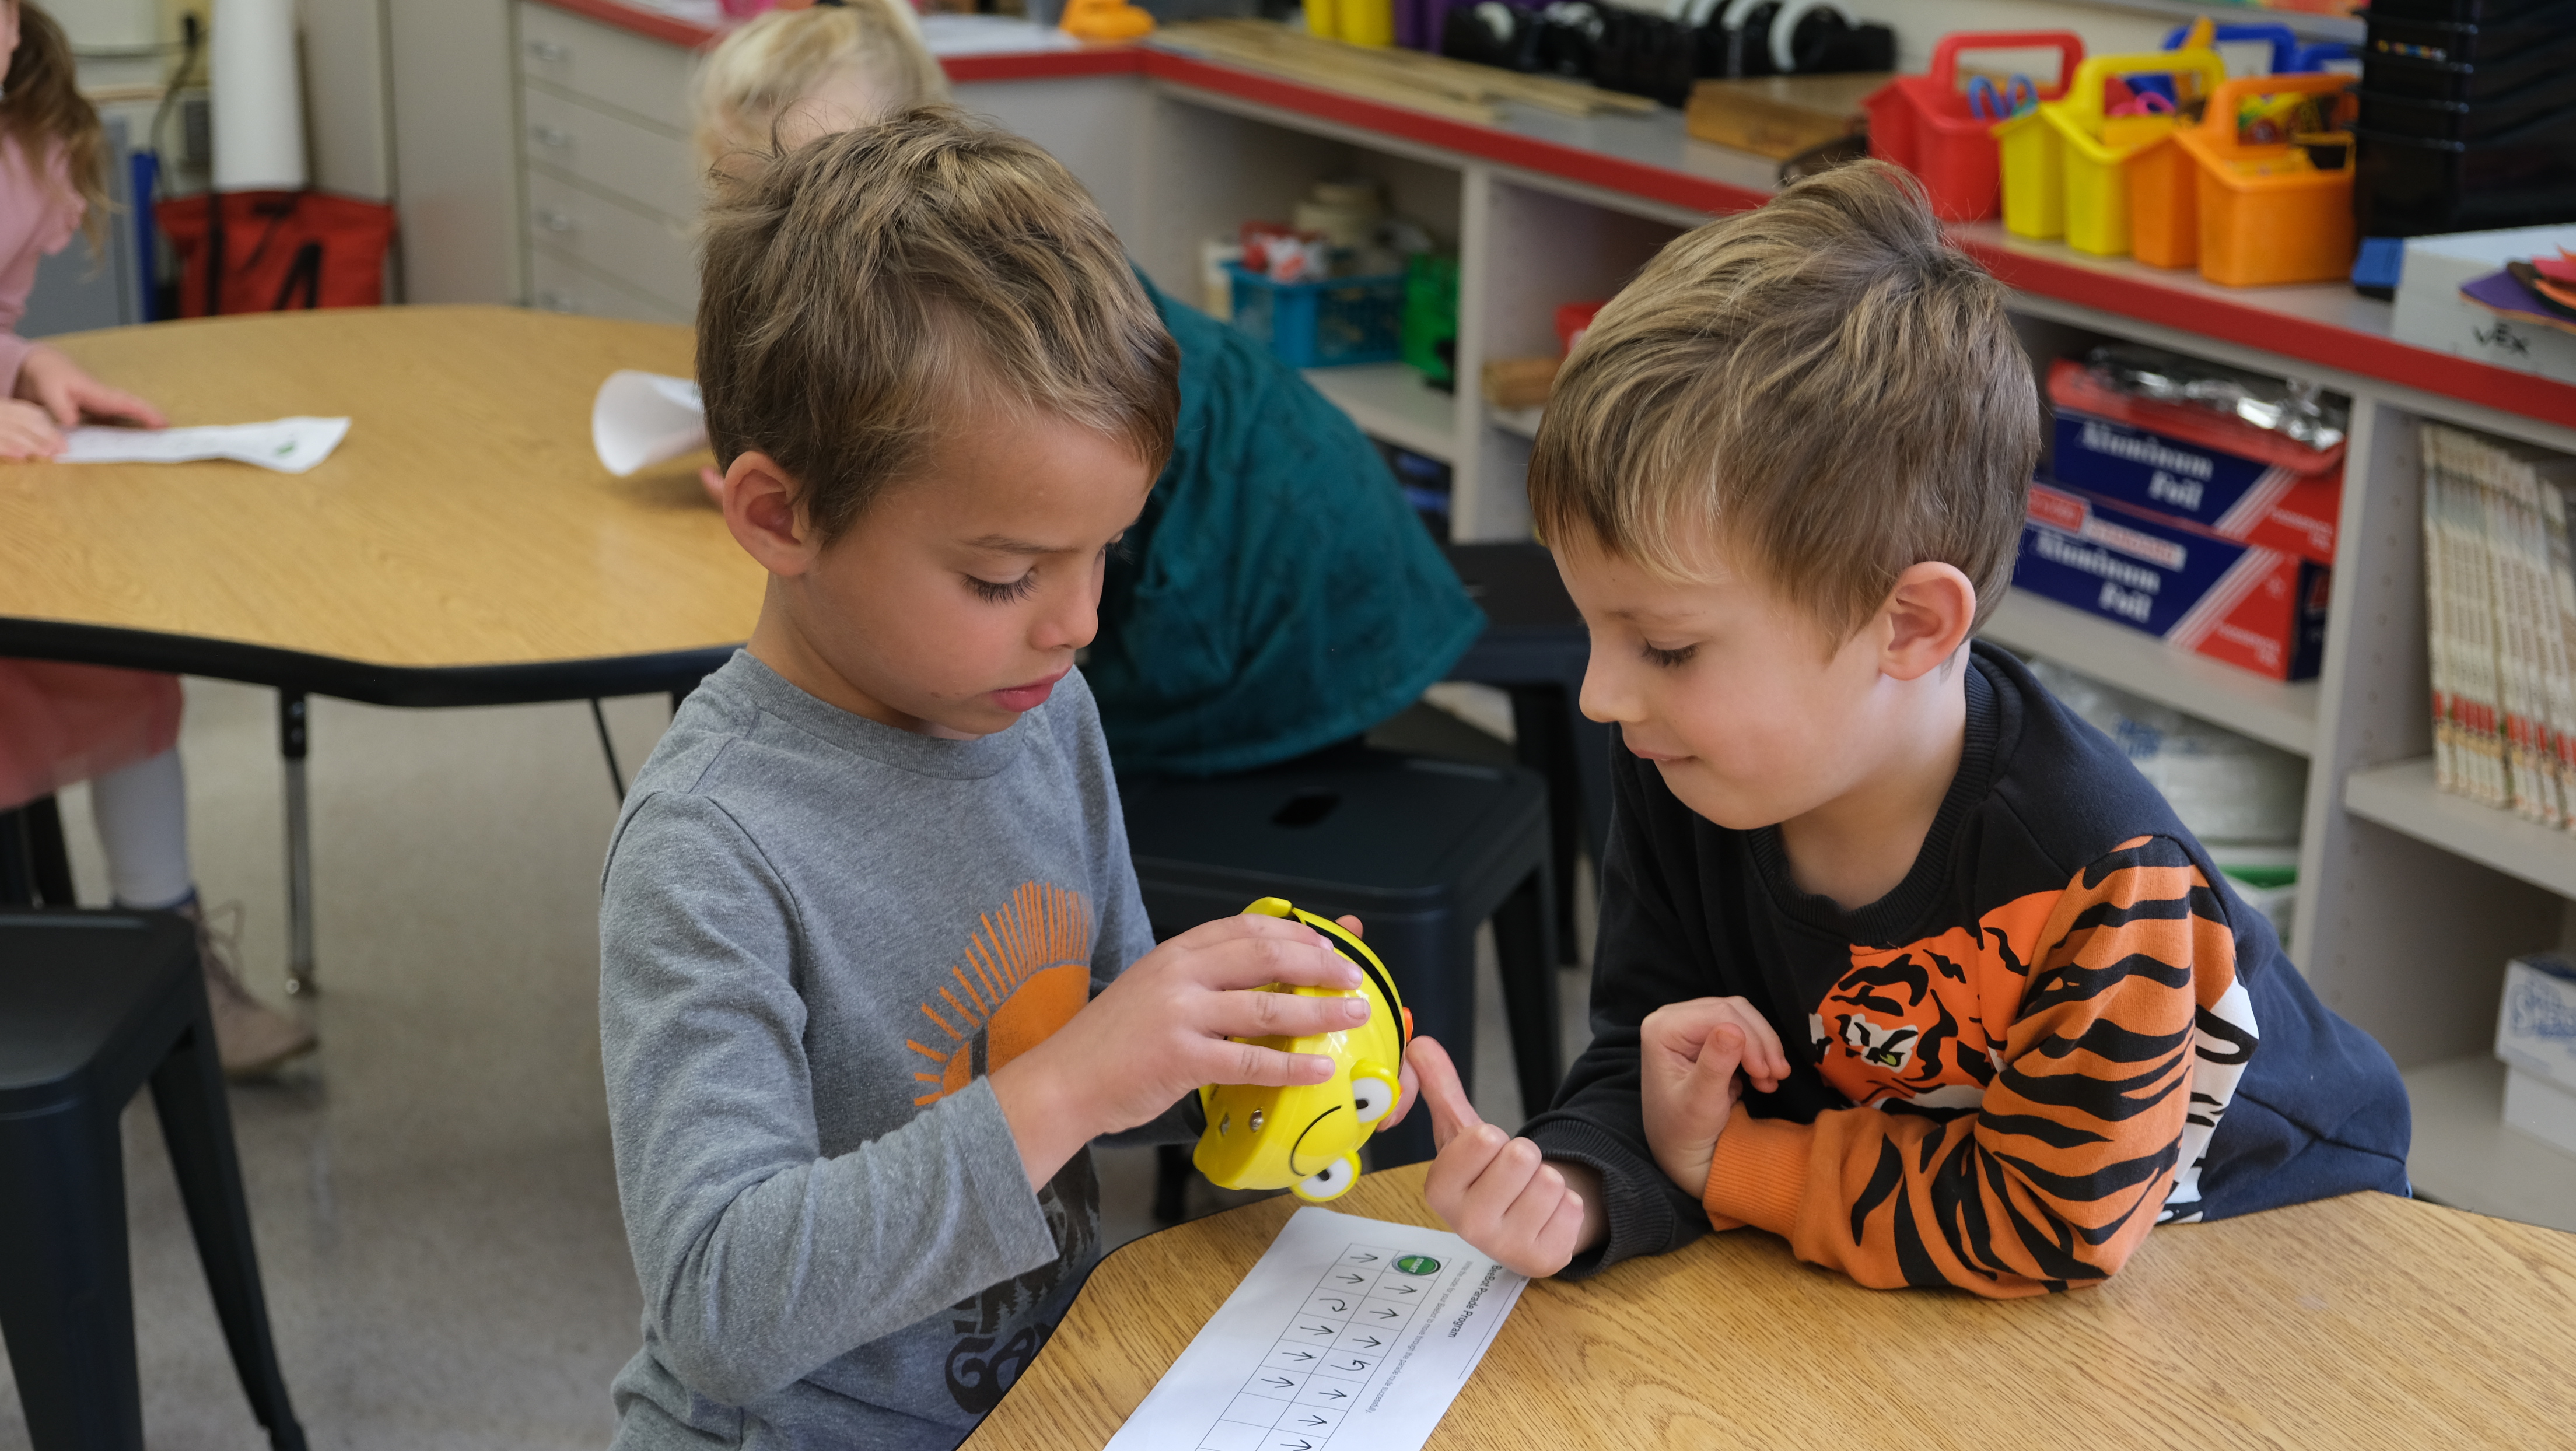
[{"label": "curled hand held near the chest of the tiger-shirt boy", "polygon": [[1692,997],[1656,1008],[1638,1026],[1638,1077],[1656,1168],[1705,1198],[1708,1165],[1744,1080],[1762,1093],[1780,1088],[1788,1054],[1744,997]]}]

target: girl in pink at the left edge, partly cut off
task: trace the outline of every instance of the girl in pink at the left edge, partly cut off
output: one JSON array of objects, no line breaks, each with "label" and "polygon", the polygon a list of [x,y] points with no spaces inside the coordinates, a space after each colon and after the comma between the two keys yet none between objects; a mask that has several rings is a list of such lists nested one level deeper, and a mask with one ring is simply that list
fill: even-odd
[{"label": "girl in pink at the left edge, partly cut off", "polygon": [[[36,263],[88,222],[106,232],[98,111],[72,82],[62,26],[0,0],[0,459],[52,459],[82,418],[160,428],[149,402],[111,389],[44,343],[18,338]],[[54,660],[0,660],[0,812],[90,783],[108,879],[124,907],[175,910],[198,925],[206,997],[224,1070],[245,1077],[312,1046],[312,1031],[258,1003],[206,933],[188,871],[188,802],[178,765],[178,678]]]}]

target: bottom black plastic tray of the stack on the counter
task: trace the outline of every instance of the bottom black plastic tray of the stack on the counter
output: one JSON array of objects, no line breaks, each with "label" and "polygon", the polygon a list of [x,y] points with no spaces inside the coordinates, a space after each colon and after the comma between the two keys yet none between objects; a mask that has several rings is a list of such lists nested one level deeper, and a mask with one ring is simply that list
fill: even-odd
[{"label": "bottom black plastic tray of the stack on the counter", "polygon": [[2576,108],[2478,142],[2354,129],[2362,237],[2576,222]]}]

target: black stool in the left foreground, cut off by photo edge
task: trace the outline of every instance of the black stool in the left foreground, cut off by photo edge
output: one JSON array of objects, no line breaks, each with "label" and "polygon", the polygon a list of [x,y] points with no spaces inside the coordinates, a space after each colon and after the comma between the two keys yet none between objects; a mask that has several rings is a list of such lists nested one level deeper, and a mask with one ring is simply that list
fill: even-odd
[{"label": "black stool in the left foreground, cut off by photo edge", "polygon": [[304,1451],[268,1338],[196,930],[167,912],[0,912],[0,1330],[36,1451],[142,1451],[116,1119],[152,1082],[252,1415]]}]

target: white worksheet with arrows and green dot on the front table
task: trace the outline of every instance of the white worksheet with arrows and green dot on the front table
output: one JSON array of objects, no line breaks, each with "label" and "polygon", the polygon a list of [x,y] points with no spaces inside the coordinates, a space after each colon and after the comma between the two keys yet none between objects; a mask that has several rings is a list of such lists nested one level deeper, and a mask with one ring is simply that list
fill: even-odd
[{"label": "white worksheet with arrows and green dot on the front table", "polygon": [[1108,1451],[1419,1451],[1528,1283],[1440,1229],[1298,1209]]}]

